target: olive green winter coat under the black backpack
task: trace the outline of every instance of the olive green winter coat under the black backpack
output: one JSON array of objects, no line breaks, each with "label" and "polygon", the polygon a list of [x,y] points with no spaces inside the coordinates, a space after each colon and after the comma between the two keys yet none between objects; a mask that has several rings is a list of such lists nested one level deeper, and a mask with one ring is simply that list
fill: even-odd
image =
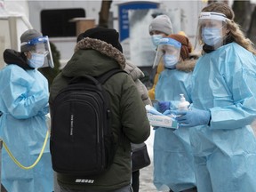
[{"label": "olive green winter coat under the black backpack", "polygon": [[[124,67],[125,59],[122,52],[98,39],[84,38],[76,44],[71,60],[52,83],[51,110],[55,96],[67,86],[72,77],[83,74],[100,76],[112,68],[124,69]],[[131,76],[126,73],[117,73],[111,76],[103,87],[108,92],[111,103],[114,137],[116,142],[119,142],[114,163],[111,164],[107,172],[100,176],[82,178],[94,180],[93,183],[76,183],[74,181],[76,177],[58,173],[57,179],[60,186],[70,189],[111,191],[131,183],[130,143],[141,143],[148,139],[150,133],[144,103]]]}]

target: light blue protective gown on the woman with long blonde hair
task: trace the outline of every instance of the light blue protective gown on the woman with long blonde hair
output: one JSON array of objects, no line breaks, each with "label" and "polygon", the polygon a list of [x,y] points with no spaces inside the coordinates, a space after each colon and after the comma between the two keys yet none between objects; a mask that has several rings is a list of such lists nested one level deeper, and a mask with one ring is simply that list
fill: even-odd
[{"label": "light blue protective gown on the woman with long blonde hair", "polygon": [[193,107],[211,111],[211,125],[190,128],[199,192],[256,191],[256,58],[231,43],[197,63]]}]

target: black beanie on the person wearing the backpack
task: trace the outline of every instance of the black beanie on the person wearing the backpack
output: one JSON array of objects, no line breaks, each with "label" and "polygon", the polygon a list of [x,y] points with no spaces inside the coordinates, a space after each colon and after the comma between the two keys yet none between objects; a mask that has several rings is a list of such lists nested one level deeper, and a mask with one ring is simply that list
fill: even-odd
[{"label": "black beanie on the person wearing the backpack", "polygon": [[119,43],[119,33],[114,28],[90,28],[77,36],[76,43],[86,37],[104,41],[107,44],[114,46],[120,52],[123,52],[122,45]]}]

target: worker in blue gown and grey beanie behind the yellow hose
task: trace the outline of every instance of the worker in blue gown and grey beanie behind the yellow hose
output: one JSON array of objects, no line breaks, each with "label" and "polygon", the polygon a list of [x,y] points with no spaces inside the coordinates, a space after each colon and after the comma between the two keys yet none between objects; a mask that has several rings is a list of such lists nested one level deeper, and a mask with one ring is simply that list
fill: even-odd
[{"label": "worker in blue gown and grey beanie behind the yellow hose", "polygon": [[[20,164],[29,166],[42,150],[47,132],[45,115],[49,111],[48,82],[36,68],[53,67],[53,62],[47,36],[28,29],[20,41],[21,52],[4,51],[7,65],[0,71],[0,137]],[[7,191],[52,192],[48,141],[38,164],[28,170],[14,164],[3,150],[2,183]]]}]

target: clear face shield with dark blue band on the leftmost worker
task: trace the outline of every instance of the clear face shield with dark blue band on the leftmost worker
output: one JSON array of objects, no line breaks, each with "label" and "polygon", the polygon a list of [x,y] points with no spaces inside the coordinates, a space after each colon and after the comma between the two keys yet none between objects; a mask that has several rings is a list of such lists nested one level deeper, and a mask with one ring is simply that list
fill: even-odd
[{"label": "clear face shield with dark blue band on the leftmost worker", "polygon": [[44,65],[41,68],[54,68],[48,36],[39,36],[31,39],[28,42],[23,42],[21,43],[21,47],[23,50],[25,50],[25,52],[44,54]]}]

